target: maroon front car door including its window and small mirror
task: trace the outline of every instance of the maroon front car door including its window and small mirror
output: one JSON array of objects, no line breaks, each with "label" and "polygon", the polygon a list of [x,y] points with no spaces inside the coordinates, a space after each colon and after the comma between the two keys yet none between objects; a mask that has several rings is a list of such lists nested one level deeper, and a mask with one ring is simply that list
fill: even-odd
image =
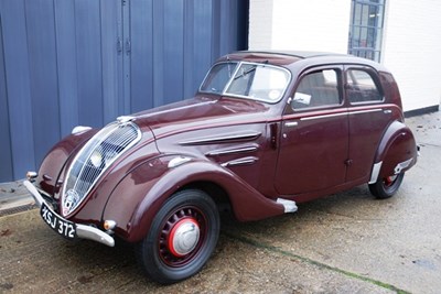
[{"label": "maroon front car door including its window and small mirror", "polygon": [[282,116],[275,185],[281,195],[316,192],[345,182],[347,110],[343,67],[303,73]]}]

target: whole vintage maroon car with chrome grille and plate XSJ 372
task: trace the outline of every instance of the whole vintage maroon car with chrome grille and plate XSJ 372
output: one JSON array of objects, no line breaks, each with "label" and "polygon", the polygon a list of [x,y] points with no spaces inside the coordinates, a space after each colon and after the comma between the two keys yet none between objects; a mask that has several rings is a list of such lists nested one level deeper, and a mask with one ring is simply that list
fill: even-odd
[{"label": "whole vintage maroon car with chrome grille and plate XSJ 372", "polygon": [[238,52],[194,98],[76,127],[25,186],[67,239],[136,243],[147,274],[173,283],[201,270],[219,209],[239,221],[368,184],[392,196],[417,161],[392,75],[336,54]]}]

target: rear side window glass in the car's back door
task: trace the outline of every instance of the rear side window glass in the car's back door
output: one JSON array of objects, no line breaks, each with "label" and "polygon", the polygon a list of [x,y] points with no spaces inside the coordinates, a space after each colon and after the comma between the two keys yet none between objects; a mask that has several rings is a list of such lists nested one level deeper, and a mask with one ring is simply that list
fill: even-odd
[{"label": "rear side window glass in the car's back door", "polygon": [[351,104],[383,101],[381,90],[368,72],[349,69],[346,72],[346,95]]}]

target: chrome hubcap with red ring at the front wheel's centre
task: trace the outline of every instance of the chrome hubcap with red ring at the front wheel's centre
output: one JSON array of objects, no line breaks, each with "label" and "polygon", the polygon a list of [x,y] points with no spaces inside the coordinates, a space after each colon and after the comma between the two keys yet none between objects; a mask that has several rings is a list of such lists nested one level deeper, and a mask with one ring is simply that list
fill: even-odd
[{"label": "chrome hubcap with red ring at the front wheel's centre", "polygon": [[201,230],[194,219],[182,219],[172,229],[169,239],[170,251],[175,257],[183,257],[196,248]]}]

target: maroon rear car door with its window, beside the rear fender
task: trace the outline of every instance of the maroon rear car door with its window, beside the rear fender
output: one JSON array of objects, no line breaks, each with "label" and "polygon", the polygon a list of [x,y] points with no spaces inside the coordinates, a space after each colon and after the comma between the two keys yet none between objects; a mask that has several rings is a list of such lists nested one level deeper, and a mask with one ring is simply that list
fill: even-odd
[{"label": "maroon rear car door with its window, beside the rear fender", "polygon": [[349,162],[347,182],[368,179],[379,141],[392,118],[384,104],[377,73],[367,66],[345,66],[345,95],[349,104]]}]

